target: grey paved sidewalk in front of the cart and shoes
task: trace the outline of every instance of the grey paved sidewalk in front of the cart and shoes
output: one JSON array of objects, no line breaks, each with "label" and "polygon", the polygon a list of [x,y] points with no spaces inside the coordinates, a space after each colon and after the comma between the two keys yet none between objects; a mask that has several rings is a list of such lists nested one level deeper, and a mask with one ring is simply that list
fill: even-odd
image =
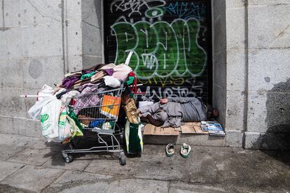
[{"label": "grey paved sidewalk in front of the cart and shoes", "polygon": [[0,134],[0,192],[287,192],[289,152],[194,146],[191,156],[165,157],[144,145],[120,166],[110,155],[83,155],[65,164],[57,143]]}]

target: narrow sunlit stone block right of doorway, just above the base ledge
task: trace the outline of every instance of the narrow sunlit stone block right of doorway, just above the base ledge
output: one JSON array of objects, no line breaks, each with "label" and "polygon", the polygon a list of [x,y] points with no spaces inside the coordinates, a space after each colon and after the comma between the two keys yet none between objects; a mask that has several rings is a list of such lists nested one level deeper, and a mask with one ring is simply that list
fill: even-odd
[{"label": "narrow sunlit stone block right of doorway, just above the base ledge", "polygon": [[244,92],[228,90],[226,94],[226,130],[244,130]]}]

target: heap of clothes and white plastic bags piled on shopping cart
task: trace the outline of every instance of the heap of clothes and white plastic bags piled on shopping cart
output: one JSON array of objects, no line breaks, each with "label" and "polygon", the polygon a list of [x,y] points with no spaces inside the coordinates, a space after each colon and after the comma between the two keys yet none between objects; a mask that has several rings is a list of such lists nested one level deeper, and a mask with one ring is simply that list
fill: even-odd
[{"label": "heap of clothes and white plastic bags piled on shopping cart", "polygon": [[97,64],[67,73],[55,89],[43,86],[40,97],[28,111],[29,116],[40,118],[42,134],[48,141],[63,142],[83,136],[83,127],[111,129],[114,122],[94,120],[93,116],[83,115],[82,109],[100,105],[101,99],[96,93],[120,87],[131,72],[125,64]]}]

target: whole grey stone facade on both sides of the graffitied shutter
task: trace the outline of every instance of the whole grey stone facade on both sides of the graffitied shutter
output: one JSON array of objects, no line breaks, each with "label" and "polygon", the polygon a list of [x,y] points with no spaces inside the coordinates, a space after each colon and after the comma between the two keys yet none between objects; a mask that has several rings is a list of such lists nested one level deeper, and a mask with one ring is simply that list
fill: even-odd
[{"label": "whole grey stone facade on both sides of the graffitied shutter", "polygon": [[[289,0],[212,1],[218,145],[289,147],[289,10]],[[102,12],[99,0],[0,0],[0,133],[40,136],[27,115],[35,99],[19,95],[104,62]]]}]

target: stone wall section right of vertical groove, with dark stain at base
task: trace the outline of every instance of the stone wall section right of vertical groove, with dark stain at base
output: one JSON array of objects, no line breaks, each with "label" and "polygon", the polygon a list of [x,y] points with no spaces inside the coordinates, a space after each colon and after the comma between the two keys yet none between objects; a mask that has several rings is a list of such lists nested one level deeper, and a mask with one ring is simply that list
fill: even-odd
[{"label": "stone wall section right of vertical groove, with dark stain at base", "polygon": [[290,1],[249,1],[245,148],[289,148]]}]

